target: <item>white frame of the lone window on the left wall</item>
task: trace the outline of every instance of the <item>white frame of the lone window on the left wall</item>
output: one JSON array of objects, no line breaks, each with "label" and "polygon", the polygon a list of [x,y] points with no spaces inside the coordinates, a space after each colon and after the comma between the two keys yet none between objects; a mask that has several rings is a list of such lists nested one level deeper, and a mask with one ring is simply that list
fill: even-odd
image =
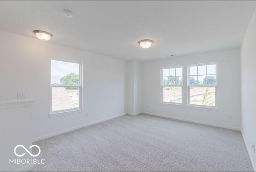
[{"label": "white frame of the lone window on the left wall", "polygon": [[[62,61],[62,62],[69,62],[69,63],[77,63],[79,64],[79,83],[76,85],[62,85],[62,84],[50,84],[50,117],[57,117],[57,116],[62,116],[62,115],[69,115],[73,113],[79,113],[82,112],[82,62],[80,61],[74,61],[74,60],[69,60],[69,59],[61,59],[61,58],[56,58],[56,57],[51,57],[50,58],[50,65],[51,65],[51,60],[55,61]],[[50,83],[51,83],[51,67],[50,67]],[[63,109],[63,110],[57,110],[57,111],[52,111],[52,88],[54,87],[78,87],[79,88],[79,106],[77,108],[70,108],[70,109]]]}]

